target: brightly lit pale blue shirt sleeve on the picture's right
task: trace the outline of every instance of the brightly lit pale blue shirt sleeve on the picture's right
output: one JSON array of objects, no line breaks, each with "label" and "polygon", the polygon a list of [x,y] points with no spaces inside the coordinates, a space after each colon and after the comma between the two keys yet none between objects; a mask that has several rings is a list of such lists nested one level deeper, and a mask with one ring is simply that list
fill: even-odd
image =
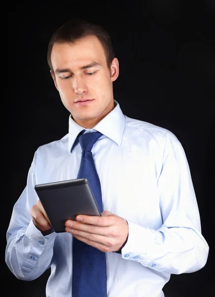
[{"label": "brightly lit pale blue shirt sleeve on the picture's right", "polygon": [[163,225],[153,230],[128,221],[129,236],[122,248],[122,257],[171,274],[203,268],[209,246],[201,234],[187,159],[180,142],[171,132],[165,140],[157,191]]}]

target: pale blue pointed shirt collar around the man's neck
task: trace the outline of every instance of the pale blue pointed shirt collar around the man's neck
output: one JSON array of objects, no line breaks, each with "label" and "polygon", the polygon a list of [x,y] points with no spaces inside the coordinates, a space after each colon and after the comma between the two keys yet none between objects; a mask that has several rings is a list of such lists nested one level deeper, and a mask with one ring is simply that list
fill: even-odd
[{"label": "pale blue pointed shirt collar around the man's neck", "polygon": [[[122,143],[122,135],[125,127],[125,116],[119,106],[119,103],[114,100],[115,107],[111,110],[93,129],[101,132],[111,140],[113,140],[118,147]],[[72,115],[69,117],[69,151],[71,152],[78,134],[82,130],[86,130],[82,126],[75,123]]]}]

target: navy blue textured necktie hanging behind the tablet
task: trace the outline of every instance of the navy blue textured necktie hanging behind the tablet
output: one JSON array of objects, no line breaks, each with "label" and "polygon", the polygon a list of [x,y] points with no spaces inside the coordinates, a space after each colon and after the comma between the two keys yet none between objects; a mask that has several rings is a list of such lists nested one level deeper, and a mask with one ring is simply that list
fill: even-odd
[{"label": "navy blue textured necktie hanging behind the tablet", "polygon": [[[103,212],[102,192],[91,149],[102,136],[100,132],[82,134],[82,148],[77,178],[86,178],[99,209]],[[107,297],[106,254],[73,237],[72,297]]]}]

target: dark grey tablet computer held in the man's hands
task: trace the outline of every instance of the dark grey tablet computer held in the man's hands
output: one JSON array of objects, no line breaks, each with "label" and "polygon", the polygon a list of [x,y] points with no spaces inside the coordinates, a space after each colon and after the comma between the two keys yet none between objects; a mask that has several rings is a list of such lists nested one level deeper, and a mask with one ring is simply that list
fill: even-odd
[{"label": "dark grey tablet computer held in the man's hands", "polygon": [[86,178],[39,184],[35,191],[57,233],[66,232],[66,220],[75,220],[78,214],[101,216]]}]

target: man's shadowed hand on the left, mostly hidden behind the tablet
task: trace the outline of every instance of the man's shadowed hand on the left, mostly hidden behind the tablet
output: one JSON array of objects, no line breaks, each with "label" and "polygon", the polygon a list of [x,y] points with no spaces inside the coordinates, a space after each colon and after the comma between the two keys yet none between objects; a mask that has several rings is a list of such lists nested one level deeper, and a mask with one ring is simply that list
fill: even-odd
[{"label": "man's shadowed hand on the left, mostly hidden behind the tablet", "polygon": [[36,228],[41,231],[43,235],[48,234],[47,231],[51,233],[52,226],[40,200],[37,200],[36,204],[32,206],[31,215]]}]

